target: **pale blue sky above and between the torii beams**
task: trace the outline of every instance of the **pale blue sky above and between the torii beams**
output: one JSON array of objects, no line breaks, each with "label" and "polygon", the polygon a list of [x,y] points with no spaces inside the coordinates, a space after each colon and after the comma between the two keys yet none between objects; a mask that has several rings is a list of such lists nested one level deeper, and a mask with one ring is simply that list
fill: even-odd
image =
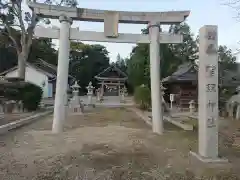
[{"label": "pale blue sky above and between the torii beams", "polygon": [[[218,25],[219,45],[227,45],[233,51],[239,48],[240,22],[234,18],[234,9],[223,5],[229,0],[79,0],[79,7],[126,10],[126,11],[169,11],[169,10],[190,10],[187,23],[192,32],[197,35],[198,30],[204,25]],[[57,21],[54,24],[59,24]],[[57,25],[56,24],[56,25]],[[81,30],[103,32],[103,23],[74,22],[72,27],[79,27]],[[121,33],[140,33],[144,25],[119,24]],[[94,44],[94,42],[86,42]],[[129,56],[135,44],[101,43],[107,47],[111,61],[116,60],[119,53],[121,57]],[[239,58],[238,58],[239,59]],[[239,59],[240,61],[240,59]]]}]

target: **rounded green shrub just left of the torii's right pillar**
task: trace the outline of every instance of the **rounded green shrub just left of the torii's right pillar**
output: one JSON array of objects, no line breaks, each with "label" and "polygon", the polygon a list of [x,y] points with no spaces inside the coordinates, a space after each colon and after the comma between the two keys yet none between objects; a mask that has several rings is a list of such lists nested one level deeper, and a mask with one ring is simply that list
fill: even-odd
[{"label": "rounded green shrub just left of the torii's right pillar", "polygon": [[149,109],[151,107],[150,89],[145,85],[136,87],[134,91],[134,100],[140,109]]}]

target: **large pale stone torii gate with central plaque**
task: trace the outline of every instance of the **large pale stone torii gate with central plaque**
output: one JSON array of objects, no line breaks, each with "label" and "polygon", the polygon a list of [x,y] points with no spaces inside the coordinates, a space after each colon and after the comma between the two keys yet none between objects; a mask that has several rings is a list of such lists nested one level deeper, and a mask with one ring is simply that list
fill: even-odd
[{"label": "large pale stone torii gate with central plaque", "polygon": [[[65,115],[67,75],[69,65],[70,40],[100,41],[115,43],[150,43],[150,74],[152,96],[152,129],[163,133],[162,98],[160,90],[160,43],[182,43],[182,35],[160,33],[161,24],[179,24],[189,15],[189,11],[169,12],[129,12],[107,11],[86,8],[69,8],[28,2],[38,16],[60,21],[60,29],[36,27],[35,36],[59,39],[57,85],[54,104],[52,130],[61,132]],[[71,28],[72,20],[104,22],[104,32],[79,31]],[[118,23],[148,24],[149,35],[118,33]]]}]

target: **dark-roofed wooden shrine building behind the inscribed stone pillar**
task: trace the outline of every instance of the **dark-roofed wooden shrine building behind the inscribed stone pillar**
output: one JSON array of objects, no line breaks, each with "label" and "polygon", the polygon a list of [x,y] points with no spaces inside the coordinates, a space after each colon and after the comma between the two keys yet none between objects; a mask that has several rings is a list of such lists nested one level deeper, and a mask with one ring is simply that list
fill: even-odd
[{"label": "dark-roofed wooden shrine building behind the inscribed stone pillar", "polygon": [[[237,64],[236,64],[237,65]],[[238,70],[224,70],[219,64],[219,86],[235,89],[240,84]],[[169,101],[170,94],[175,95],[174,104],[180,108],[188,108],[189,102],[194,100],[198,104],[198,66],[195,63],[184,63],[170,76],[162,80],[165,90],[165,100]]]}]

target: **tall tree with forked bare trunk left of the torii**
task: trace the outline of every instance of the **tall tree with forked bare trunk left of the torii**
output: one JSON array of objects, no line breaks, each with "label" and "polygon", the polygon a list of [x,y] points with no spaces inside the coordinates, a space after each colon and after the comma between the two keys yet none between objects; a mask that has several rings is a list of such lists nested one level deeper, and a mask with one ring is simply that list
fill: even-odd
[{"label": "tall tree with forked bare trunk left of the torii", "polygon": [[[36,0],[33,0],[36,2]],[[53,2],[46,0],[45,4],[76,6],[76,0],[61,0]],[[18,77],[25,79],[25,65],[32,45],[34,28],[38,22],[50,23],[48,19],[40,19],[33,10],[24,8],[23,0],[0,0],[0,26],[2,33],[9,37],[18,55]]]}]

